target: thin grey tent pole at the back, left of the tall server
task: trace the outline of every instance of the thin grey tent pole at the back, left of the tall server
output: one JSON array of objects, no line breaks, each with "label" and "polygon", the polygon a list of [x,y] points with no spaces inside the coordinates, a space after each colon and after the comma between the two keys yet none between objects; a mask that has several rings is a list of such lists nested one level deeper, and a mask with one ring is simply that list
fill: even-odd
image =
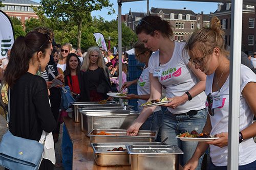
[{"label": "thin grey tent pole at the back, left of the tall server", "polygon": [[[117,0],[118,3],[118,66],[119,66],[119,89],[122,87],[122,1]],[[119,102],[122,104],[123,100]]]}]

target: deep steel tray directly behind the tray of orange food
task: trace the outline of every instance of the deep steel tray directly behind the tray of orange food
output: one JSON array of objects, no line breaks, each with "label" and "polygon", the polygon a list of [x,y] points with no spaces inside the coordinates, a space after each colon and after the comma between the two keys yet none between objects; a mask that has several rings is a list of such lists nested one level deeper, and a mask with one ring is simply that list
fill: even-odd
[{"label": "deep steel tray directly behind the tray of orange food", "polygon": [[128,129],[140,114],[134,110],[84,111],[80,113],[85,135],[92,129]]}]

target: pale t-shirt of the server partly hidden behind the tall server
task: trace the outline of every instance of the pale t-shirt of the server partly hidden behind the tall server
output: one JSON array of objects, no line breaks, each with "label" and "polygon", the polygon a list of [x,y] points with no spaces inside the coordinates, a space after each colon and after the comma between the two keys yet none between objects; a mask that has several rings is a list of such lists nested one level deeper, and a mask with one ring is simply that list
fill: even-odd
[{"label": "pale t-shirt of the server partly hidden behind the tall server", "polygon": [[[148,73],[148,67],[144,68],[137,83],[137,90],[139,95],[150,94],[150,74]],[[144,107],[141,107],[147,100],[139,100],[138,111],[141,112]],[[160,106],[157,106],[154,112],[161,110]]]}]

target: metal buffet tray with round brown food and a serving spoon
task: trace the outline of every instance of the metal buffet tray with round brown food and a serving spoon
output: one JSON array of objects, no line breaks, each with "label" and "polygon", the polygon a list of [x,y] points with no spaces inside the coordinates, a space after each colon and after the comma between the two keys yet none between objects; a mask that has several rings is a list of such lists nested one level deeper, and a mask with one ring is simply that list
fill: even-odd
[{"label": "metal buffet tray with round brown food and a serving spoon", "polygon": [[[114,148],[122,147],[126,149],[125,145],[159,145],[161,142],[113,142],[113,143],[91,143],[93,148],[93,156],[97,165],[99,166],[115,166],[115,165],[131,165],[129,162],[129,154],[127,151],[112,151]],[[164,143],[165,144],[165,143]],[[108,151],[111,150],[111,151]]]}]

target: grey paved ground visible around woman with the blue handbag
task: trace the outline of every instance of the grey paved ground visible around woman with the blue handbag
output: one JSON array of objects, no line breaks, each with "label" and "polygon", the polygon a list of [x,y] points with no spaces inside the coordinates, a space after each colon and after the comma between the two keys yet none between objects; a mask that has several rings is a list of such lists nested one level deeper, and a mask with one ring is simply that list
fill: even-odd
[{"label": "grey paved ground visible around woman with the blue handbag", "polygon": [[[6,120],[3,116],[0,116],[0,140],[2,140],[3,135],[7,132],[6,129]],[[62,160],[62,151],[61,151],[61,142],[62,142],[62,125],[60,126],[60,135],[59,141],[55,143],[55,155],[56,155],[56,162],[60,163]],[[0,165],[0,170],[5,169],[3,166]],[[63,167],[54,167],[55,170],[62,170]]]}]

